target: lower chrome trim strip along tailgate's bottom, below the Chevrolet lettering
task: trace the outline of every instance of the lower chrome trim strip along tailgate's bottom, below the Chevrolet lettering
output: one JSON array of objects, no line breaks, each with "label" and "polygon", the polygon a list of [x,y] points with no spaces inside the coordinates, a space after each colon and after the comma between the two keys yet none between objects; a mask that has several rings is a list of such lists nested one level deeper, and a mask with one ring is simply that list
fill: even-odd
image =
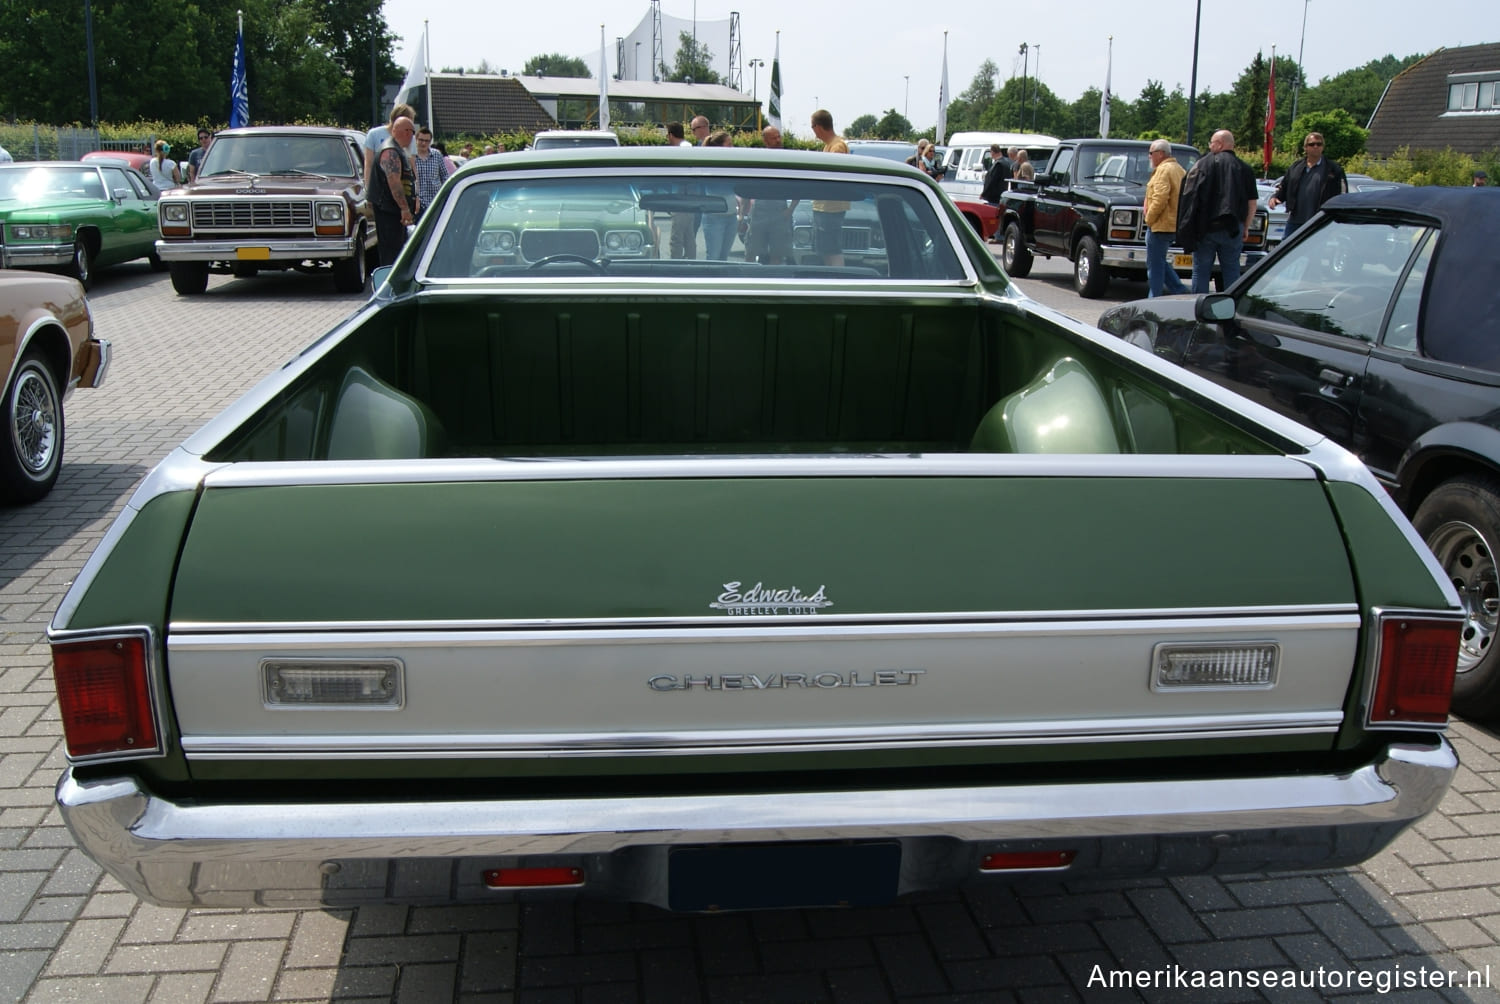
[{"label": "lower chrome trim strip along tailgate's bottom, below the Chevrolet lettering", "polygon": [[[1334,734],[1344,713],[1185,714],[1128,722],[1058,720],[1026,723],[894,725],[812,729],[704,729],[666,734],[495,735],[194,735],[183,737],[188,759],[519,759],[618,756],[724,756],[873,749],[1052,746],[1062,743],[1149,743]],[[1004,735],[996,732],[1004,731]]]}]

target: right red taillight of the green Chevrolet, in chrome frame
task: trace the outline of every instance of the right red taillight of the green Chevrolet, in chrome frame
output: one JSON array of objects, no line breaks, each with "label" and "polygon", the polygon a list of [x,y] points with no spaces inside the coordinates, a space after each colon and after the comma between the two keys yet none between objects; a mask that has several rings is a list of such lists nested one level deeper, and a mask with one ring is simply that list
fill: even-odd
[{"label": "right red taillight of the green Chevrolet, in chrome frame", "polygon": [[1458,668],[1460,620],[1388,614],[1370,696],[1371,725],[1443,725]]}]

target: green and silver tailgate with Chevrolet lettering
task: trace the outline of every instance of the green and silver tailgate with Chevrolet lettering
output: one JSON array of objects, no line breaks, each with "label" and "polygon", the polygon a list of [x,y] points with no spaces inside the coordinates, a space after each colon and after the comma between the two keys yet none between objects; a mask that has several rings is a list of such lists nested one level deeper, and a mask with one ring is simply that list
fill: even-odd
[{"label": "green and silver tailgate with Chevrolet lettering", "polygon": [[[1359,609],[1305,465],[1012,459],[212,476],[168,627],[183,749],[502,771],[1168,735],[1329,746]],[[870,464],[910,476],[854,474]],[[1270,647],[1276,665],[1158,686],[1162,645]],[[386,701],[273,692],[286,671],[381,668]]]}]

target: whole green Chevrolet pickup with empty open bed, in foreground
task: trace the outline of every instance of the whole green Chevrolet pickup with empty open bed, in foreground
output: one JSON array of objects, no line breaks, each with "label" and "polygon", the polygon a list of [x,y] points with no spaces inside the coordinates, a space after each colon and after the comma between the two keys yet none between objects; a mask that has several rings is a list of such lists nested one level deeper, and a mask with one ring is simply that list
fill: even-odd
[{"label": "whole green Chevrolet pickup with empty open bed, in foreground", "polygon": [[[885,260],[484,248],[724,188]],[[1329,867],[1443,795],[1460,624],[1358,459],[1028,300],[930,180],[532,152],[138,488],[50,630],[57,798],[177,905]]]}]

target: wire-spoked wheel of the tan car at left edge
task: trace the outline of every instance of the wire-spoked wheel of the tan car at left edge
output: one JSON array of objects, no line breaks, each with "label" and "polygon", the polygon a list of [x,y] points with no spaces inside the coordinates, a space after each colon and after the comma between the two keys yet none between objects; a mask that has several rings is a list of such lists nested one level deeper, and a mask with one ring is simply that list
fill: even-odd
[{"label": "wire-spoked wheel of the tan car at left edge", "polygon": [[3,402],[0,497],[30,503],[52,491],[63,467],[63,398],[36,351],[21,357]]}]

